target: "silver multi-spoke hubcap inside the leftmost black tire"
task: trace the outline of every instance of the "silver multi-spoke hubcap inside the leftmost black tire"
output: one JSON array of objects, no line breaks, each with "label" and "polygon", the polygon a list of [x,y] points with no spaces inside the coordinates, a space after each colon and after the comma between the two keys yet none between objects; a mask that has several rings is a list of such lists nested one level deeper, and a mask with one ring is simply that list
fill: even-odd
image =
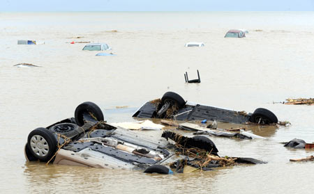
[{"label": "silver multi-spoke hubcap inside the leftmost black tire", "polygon": [[47,156],[49,145],[43,136],[35,135],[31,137],[31,150],[38,156]]}]

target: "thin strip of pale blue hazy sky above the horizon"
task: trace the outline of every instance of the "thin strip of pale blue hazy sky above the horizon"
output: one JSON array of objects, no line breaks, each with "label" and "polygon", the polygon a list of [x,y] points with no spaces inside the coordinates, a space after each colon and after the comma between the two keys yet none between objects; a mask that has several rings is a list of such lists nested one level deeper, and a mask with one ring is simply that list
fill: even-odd
[{"label": "thin strip of pale blue hazy sky above the horizon", "polygon": [[314,0],[0,0],[0,11],[314,11]]}]

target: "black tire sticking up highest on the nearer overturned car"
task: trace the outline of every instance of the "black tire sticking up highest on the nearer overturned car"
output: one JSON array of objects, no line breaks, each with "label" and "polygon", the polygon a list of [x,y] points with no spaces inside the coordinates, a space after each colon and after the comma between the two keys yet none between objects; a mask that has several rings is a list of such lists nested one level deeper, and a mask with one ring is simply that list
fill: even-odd
[{"label": "black tire sticking up highest on the nearer overturned car", "polygon": [[103,112],[93,102],[83,102],[75,109],[75,122],[78,126],[84,125],[84,113],[92,113],[98,121],[103,120]]}]

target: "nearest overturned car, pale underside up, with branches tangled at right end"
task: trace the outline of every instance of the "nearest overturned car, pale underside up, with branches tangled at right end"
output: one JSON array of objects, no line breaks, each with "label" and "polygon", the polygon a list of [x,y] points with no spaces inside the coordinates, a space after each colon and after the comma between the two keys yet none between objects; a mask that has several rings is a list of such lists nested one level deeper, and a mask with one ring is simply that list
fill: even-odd
[{"label": "nearest overturned car, pale underside up, with branches tangled at right end", "polygon": [[[187,149],[190,155],[184,155]],[[164,131],[162,137],[153,139],[115,127],[103,120],[102,111],[92,102],[77,106],[75,118],[31,131],[24,154],[27,161],[162,174],[172,173],[170,168],[183,172],[184,165],[210,170],[235,163],[263,163],[219,157],[216,145],[204,136],[188,138]]]}]

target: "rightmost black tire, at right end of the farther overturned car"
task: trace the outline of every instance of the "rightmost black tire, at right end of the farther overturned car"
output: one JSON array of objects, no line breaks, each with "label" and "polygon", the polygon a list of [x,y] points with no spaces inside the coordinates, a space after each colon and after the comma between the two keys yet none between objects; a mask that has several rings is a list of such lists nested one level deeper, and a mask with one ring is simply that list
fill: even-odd
[{"label": "rightmost black tire, at right end of the farther overturned car", "polygon": [[276,115],[266,108],[257,108],[251,115],[251,122],[258,123],[260,120],[262,121],[260,124],[271,124],[278,122]]}]

